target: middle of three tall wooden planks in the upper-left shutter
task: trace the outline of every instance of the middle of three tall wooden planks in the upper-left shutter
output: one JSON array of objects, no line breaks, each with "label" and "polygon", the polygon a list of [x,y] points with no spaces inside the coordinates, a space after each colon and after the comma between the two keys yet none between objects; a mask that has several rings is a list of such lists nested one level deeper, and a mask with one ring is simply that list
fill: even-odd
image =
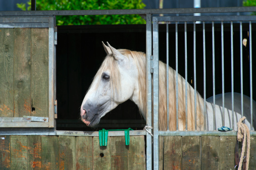
[{"label": "middle of three tall wooden planks in the upper-left shutter", "polygon": [[31,116],[31,28],[14,28],[14,117]]}]

